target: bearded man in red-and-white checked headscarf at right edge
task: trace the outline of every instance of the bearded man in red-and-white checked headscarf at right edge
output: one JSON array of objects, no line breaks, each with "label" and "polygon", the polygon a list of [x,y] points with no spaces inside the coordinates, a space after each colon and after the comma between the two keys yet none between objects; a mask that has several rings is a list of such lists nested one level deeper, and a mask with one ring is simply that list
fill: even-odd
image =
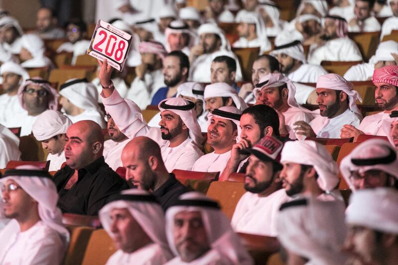
[{"label": "bearded man in red-and-white checked headscarf at right edge", "polygon": [[398,110],[398,66],[388,65],[375,70],[373,73],[376,104],[382,112],[366,116],[358,129],[351,125],[344,125],[341,137],[355,137],[360,134],[387,136],[383,130],[383,121],[389,118],[394,110]]}]

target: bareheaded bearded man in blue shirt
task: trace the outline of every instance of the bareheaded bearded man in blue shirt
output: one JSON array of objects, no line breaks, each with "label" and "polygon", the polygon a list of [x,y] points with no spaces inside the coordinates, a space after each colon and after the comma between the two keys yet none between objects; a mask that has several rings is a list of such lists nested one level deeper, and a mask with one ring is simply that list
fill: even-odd
[{"label": "bareheaded bearded man in blue shirt", "polygon": [[172,51],[163,61],[163,77],[167,87],[159,88],[153,95],[151,105],[157,105],[165,98],[175,97],[177,88],[187,82],[190,62],[182,51]]}]

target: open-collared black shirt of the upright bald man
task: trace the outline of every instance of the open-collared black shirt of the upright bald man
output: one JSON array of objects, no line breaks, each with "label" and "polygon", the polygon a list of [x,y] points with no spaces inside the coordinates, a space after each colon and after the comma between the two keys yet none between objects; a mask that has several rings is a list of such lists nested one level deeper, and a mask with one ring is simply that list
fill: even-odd
[{"label": "open-collared black shirt of the upright bald man", "polygon": [[64,189],[74,172],[65,166],[54,175],[59,193],[58,207],[62,212],[98,215],[109,195],[129,188],[127,182],[109,168],[103,157],[80,169],[76,183],[71,189]]}]

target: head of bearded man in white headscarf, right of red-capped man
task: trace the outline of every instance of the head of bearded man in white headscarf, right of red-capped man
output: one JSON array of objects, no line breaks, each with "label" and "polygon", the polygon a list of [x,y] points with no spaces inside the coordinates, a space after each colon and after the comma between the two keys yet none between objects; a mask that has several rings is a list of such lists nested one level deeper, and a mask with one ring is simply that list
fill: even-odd
[{"label": "head of bearded man in white headscarf, right of red-capped man", "polygon": [[287,142],[281,153],[281,163],[280,178],[289,196],[324,200],[339,196],[334,190],[339,183],[337,165],[321,144],[310,140]]}]

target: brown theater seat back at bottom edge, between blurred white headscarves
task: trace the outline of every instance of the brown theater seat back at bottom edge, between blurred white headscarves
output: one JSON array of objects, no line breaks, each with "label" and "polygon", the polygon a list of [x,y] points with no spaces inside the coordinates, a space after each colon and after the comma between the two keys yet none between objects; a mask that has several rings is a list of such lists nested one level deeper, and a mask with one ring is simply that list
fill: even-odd
[{"label": "brown theater seat back at bottom edge, between blurred white headscarves", "polygon": [[266,237],[238,233],[243,245],[249,251],[254,260],[254,264],[265,264],[268,258],[277,253],[280,249],[278,239],[275,237]]}]

